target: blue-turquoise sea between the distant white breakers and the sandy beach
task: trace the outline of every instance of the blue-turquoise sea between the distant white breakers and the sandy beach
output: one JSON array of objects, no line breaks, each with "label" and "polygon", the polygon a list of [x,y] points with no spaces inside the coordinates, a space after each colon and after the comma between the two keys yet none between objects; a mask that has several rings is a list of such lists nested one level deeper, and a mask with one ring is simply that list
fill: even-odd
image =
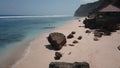
[{"label": "blue-turquoise sea between the distant white breakers and the sandy beach", "polygon": [[[5,57],[10,51],[17,51],[23,44],[29,43],[35,37],[51,31],[68,21],[72,16],[3,16],[0,17],[0,57]],[[1,59],[0,58],[0,62]]]}]

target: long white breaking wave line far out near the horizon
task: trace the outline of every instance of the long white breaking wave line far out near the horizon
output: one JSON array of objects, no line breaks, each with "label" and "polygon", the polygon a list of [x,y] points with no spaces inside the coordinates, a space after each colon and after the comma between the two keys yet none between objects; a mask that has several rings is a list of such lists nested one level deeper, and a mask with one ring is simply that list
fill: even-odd
[{"label": "long white breaking wave line far out near the horizon", "polygon": [[0,16],[0,18],[39,18],[39,17],[72,17],[72,15],[48,15],[48,16]]}]

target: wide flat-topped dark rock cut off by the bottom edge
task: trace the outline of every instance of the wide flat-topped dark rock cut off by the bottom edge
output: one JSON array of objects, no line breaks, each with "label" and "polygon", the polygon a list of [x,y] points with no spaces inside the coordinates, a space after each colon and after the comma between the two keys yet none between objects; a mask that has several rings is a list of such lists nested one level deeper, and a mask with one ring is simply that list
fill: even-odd
[{"label": "wide flat-topped dark rock cut off by the bottom edge", "polygon": [[87,62],[51,62],[49,68],[90,68],[90,65]]}]

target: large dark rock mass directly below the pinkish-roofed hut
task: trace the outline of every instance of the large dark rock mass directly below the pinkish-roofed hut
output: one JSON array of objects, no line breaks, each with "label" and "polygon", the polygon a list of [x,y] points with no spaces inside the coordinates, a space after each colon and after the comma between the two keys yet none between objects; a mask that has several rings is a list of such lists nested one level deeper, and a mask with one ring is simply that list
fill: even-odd
[{"label": "large dark rock mass directly below the pinkish-roofed hut", "polygon": [[[83,21],[85,28],[94,29],[94,36],[102,37],[102,35],[111,35],[112,32],[120,29],[120,23],[115,23],[114,21],[96,21],[96,19],[85,19]],[[89,31],[86,31],[89,33]]]}]

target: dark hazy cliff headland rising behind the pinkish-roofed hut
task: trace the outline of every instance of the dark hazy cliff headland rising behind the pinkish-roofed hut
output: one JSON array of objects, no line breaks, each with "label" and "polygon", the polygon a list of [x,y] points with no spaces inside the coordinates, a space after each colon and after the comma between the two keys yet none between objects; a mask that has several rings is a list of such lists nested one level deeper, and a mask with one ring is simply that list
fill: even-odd
[{"label": "dark hazy cliff headland rising behind the pinkish-roofed hut", "polygon": [[89,13],[94,13],[108,4],[113,4],[120,7],[120,0],[99,0],[97,2],[81,5],[76,10],[74,16],[87,16]]}]

